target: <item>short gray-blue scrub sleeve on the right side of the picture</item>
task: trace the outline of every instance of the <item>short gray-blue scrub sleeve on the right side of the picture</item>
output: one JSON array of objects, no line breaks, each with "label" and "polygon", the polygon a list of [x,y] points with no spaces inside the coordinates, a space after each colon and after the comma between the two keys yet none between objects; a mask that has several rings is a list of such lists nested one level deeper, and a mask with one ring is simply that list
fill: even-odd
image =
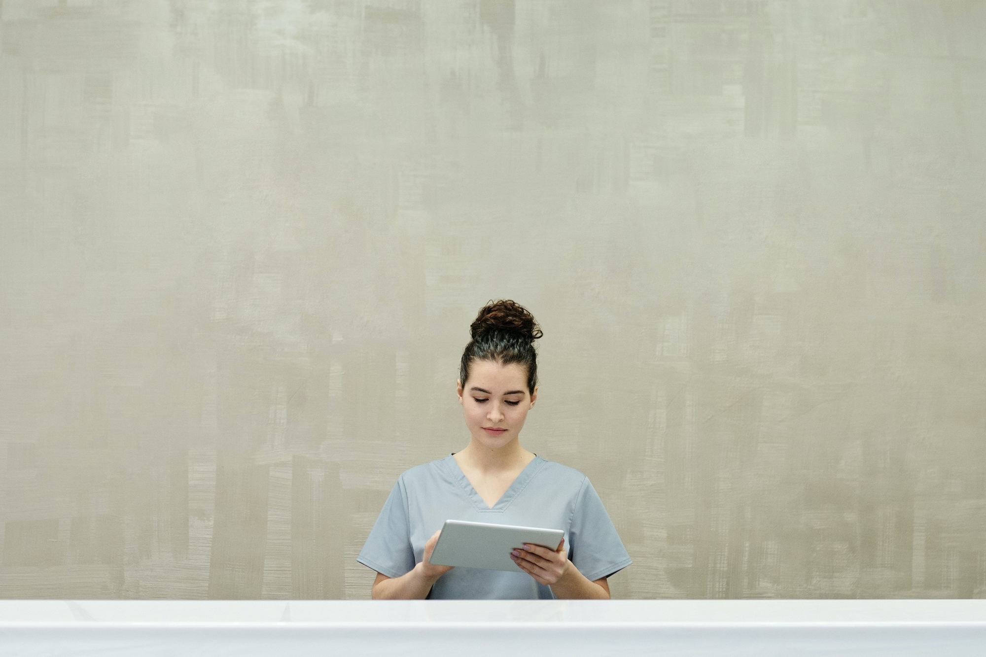
[{"label": "short gray-blue scrub sleeve on the right side of the picture", "polygon": [[569,541],[569,558],[590,580],[608,577],[632,563],[588,477],[572,513]]}]

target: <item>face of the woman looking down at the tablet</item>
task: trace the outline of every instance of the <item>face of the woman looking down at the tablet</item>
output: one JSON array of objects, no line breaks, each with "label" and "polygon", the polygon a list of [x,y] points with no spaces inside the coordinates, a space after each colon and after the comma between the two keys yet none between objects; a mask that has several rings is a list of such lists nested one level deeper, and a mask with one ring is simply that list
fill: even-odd
[{"label": "face of the woman looking down at the tablet", "polygon": [[536,388],[533,395],[528,395],[528,372],[517,363],[473,361],[465,389],[461,382],[457,382],[457,388],[469,433],[473,440],[490,449],[517,440],[528,410],[537,399]]}]

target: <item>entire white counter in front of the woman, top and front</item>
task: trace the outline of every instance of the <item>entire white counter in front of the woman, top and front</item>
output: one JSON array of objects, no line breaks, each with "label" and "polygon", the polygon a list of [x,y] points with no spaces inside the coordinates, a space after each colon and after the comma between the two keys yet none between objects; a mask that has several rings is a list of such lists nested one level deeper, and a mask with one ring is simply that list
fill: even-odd
[{"label": "entire white counter in front of the woman, top and front", "polygon": [[0,655],[986,655],[986,600],[0,600]]}]

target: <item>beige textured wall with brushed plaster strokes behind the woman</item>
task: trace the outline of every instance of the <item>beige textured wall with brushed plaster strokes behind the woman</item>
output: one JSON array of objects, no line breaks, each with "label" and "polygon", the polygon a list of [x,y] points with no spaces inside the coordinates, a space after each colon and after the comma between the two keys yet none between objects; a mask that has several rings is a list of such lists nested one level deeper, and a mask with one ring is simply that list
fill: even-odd
[{"label": "beige textured wall with brushed plaster strokes behind the woman", "polygon": [[617,596],[986,594],[986,3],[0,12],[0,596],[367,597],[494,297]]}]

